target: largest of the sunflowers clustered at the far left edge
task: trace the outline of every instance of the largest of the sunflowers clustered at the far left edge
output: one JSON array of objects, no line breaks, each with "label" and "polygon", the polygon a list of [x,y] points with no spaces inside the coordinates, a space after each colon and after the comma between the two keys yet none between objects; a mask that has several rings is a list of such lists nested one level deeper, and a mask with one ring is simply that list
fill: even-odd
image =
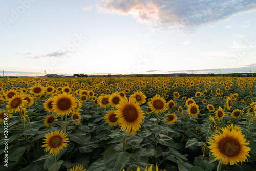
[{"label": "largest of the sunflowers clustered at the far left edge", "polygon": [[24,100],[24,97],[21,95],[14,95],[8,102],[7,102],[7,109],[10,109],[11,112],[20,111],[20,108],[22,108],[27,103],[26,100]]}]

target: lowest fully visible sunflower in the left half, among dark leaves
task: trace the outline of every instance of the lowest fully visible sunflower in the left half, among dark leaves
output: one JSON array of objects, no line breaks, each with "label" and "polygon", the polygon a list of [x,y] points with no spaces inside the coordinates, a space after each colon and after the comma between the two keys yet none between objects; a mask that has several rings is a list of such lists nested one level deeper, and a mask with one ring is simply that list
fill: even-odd
[{"label": "lowest fully visible sunflower in the left half, among dark leaves", "polygon": [[63,133],[63,131],[54,131],[54,133],[51,131],[51,133],[47,133],[45,135],[44,145],[42,147],[46,147],[45,152],[49,152],[49,154],[57,155],[59,154],[60,150],[63,149],[63,147],[67,147],[67,143],[69,142],[66,133]]}]

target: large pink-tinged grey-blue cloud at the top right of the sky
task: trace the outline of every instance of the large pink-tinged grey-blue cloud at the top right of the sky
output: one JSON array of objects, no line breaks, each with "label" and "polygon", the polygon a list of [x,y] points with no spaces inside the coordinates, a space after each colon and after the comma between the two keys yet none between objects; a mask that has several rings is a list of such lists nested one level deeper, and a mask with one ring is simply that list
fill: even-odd
[{"label": "large pink-tinged grey-blue cloud at the top right of the sky", "polygon": [[132,16],[163,30],[192,29],[256,10],[254,0],[102,0],[96,6],[99,13]]}]

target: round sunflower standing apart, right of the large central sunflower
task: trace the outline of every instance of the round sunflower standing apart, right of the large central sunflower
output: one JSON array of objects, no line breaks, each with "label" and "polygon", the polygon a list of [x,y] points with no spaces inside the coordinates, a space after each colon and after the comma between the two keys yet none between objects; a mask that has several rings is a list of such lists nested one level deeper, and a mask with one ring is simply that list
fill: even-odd
[{"label": "round sunflower standing apart, right of the large central sunflower", "polygon": [[148,102],[151,110],[155,113],[164,113],[167,110],[167,103],[164,98],[160,97],[158,94],[155,95],[150,102]]}]

